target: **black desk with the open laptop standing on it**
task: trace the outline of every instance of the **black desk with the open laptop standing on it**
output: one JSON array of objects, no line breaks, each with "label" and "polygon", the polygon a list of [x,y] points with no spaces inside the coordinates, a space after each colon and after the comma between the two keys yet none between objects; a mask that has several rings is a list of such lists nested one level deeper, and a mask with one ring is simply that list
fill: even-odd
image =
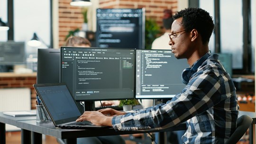
[{"label": "black desk with the open laptop standing on it", "polygon": [[[256,113],[240,111],[239,117],[242,115],[248,115],[253,118],[252,126],[256,124]],[[10,117],[3,115],[0,112],[0,144],[5,144],[5,124],[17,126],[21,128],[21,141],[22,144],[42,144],[42,134],[51,135],[57,138],[66,139],[66,144],[75,144],[78,137],[91,137],[91,136],[107,136],[107,135],[127,135],[127,134],[139,134],[139,133],[153,133],[153,132],[167,132],[175,130],[186,129],[186,124],[163,129],[163,130],[151,130],[151,131],[115,131],[114,128],[106,128],[104,130],[99,129],[61,129],[55,127],[52,122],[37,123],[36,117]],[[253,144],[253,129],[250,127],[250,144]]]}]

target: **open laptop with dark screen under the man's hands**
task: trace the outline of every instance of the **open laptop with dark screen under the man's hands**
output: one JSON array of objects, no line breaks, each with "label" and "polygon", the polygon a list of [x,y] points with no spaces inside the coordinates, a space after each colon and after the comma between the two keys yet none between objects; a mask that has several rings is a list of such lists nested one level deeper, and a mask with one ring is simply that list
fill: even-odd
[{"label": "open laptop with dark screen under the man's hands", "polygon": [[89,121],[76,122],[82,114],[64,83],[34,84],[40,102],[56,127],[70,129],[103,128]]}]

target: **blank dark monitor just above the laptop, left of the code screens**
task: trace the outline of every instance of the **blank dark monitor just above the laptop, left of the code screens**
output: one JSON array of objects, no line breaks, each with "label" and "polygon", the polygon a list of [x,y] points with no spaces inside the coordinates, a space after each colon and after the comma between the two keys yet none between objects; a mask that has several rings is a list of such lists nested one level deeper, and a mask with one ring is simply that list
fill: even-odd
[{"label": "blank dark monitor just above the laptop, left of the code screens", "polygon": [[37,83],[60,82],[60,49],[38,49]]}]

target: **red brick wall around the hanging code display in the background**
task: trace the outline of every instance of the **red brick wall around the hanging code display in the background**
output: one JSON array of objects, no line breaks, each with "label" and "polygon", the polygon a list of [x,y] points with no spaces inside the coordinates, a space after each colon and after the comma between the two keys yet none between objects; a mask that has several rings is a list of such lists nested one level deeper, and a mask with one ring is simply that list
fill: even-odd
[{"label": "red brick wall around the hanging code display in the background", "polygon": [[[82,28],[83,17],[82,9],[70,6],[72,0],[59,0],[59,45],[65,45],[65,36],[70,30]],[[156,22],[162,27],[164,9],[177,11],[177,0],[99,0],[100,8],[116,9],[146,9],[146,18],[155,18]]]}]

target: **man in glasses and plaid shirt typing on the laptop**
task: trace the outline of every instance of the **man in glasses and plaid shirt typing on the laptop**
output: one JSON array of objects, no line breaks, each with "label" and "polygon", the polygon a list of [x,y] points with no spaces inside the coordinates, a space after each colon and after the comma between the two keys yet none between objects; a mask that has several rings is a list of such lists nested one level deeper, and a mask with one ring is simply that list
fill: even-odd
[{"label": "man in glasses and plaid shirt typing on the laptop", "polygon": [[[218,54],[210,54],[214,23],[200,8],[187,8],[174,16],[169,45],[177,59],[187,59],[182,73],[186,86],[165,104],[121,112],[111,108],[85,111],[76,121],[88,120],[117,131],[165,129],[186,122],[184,144],[224,144],[238,123],[236,88]],[[167,43],[167,42],[166,42]]]}]

